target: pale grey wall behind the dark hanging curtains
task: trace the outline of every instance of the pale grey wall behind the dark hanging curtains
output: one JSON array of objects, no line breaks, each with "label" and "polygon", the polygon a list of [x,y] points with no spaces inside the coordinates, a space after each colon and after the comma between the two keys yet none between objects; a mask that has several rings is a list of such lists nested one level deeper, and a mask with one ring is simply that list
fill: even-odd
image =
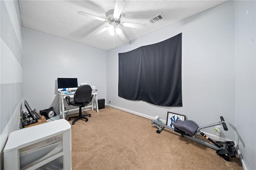
[{"label": "pale grey wall behind the dark hanging curtains", "polygon": [[[180,32],[183,107],[159,107],[118,97],[118,53],[161,42]],[[221,137],[234,139],[234,41],[232,1],[108,50],[106,101],[111,99],[113,107],[144,117],[159,115],[164,121],[167,111],[184,114],[199,126],[218,122],[223,116],[229,130]],[[214,130],[204,132],[213,134]]]}]

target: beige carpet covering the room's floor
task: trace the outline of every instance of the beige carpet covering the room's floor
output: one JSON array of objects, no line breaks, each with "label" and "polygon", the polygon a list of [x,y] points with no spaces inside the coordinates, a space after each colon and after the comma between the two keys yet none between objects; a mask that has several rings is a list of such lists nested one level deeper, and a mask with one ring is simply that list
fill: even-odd
[{"label": "beige carpet covering the room's floor", "polygon": [[157,134],[150,119],[111,107],[83,113],[92,114],[89,121],[71,125],[73,170],[243,169],[239,158],[227,162],[171,130]]}]

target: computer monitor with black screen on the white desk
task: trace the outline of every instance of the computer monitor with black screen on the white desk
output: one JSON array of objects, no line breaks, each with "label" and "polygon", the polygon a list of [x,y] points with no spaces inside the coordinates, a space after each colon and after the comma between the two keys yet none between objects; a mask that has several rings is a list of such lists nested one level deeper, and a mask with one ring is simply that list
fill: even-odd
[{"label": "computer monitor with black screen on the white desk", "polygon": [[58,91],[76,90],[78,88],[77,78],[58,78]]}]

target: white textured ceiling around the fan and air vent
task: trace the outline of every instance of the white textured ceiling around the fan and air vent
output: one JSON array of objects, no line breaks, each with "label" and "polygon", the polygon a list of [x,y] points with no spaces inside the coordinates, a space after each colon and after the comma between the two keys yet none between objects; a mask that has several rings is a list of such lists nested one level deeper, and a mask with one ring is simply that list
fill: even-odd
[{"label": "white textured ceiling around the fan and air vent", "polygon": [[[94,35],[110,25],[78,14],[78,11],[82,11],[107,18],[106,13],[114,9],[115,0],[19,0],[19,5],[24,27],[108,50],[226,2],[226,0],[124,1],[120,21],[146,25],[143,30],[119,25],[126,37],[124,41],[119,36],[111,36],[108,30],[100,35]],[[160,13],[165,19],[155,24],[148,21]]]}]

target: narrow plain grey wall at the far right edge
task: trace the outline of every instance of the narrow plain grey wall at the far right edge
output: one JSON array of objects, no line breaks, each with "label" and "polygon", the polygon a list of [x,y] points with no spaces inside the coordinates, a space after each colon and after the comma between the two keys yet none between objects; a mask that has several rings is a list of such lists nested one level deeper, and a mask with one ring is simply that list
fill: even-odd
[{"label": "narrow plain grey wall at the far right edge", "polygon": [[256,2],[235,1],[235,137],[249,170],[256,168]]}]

